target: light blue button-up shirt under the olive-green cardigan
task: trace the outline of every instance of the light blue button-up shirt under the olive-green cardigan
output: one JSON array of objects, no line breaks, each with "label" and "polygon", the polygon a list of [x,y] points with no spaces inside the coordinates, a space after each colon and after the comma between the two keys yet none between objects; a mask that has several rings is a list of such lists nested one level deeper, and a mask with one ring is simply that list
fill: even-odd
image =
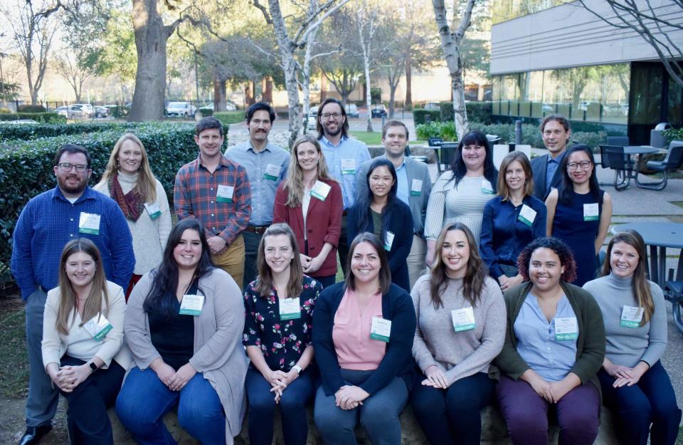
[{"label": "light blue button-up shirt under the olive-green cardigan", "polygon": [[566,377],[576,362],[576,339],[555,340],[555,319],[571,317],[576,318],[576,314],[566,295],[561,296],[555,316],[549,322],[536,295],[529,292],[514,320],[517,352],[534,372],[548,381],[558,382]]}]

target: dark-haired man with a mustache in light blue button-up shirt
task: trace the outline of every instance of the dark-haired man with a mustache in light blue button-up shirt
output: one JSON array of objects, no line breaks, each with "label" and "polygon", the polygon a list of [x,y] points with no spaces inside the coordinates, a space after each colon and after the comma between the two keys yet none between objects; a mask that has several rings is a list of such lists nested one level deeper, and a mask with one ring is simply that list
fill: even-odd
[{"label": "dark-haired man with a mustache in light blue button-up shirt", "polygon": [[[249,140],[226,150],[226,157],[247,170],[251,195],[251,217],[243,232],[245,263],[242,288],[256,279],[258,244],[265,229],[272,224],[275,191],[287,177],[290,153],[268,142],[275,120],[275,110],[264,102],[251,105],[245,113]],[[240,283],[238,283],[240,284]]]}]

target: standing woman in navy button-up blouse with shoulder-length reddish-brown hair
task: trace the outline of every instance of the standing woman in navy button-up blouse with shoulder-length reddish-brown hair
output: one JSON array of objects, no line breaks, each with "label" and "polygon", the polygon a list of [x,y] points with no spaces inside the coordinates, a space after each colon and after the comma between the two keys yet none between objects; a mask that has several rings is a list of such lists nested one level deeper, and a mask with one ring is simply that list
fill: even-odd
[{"label": "standing woman in navy button-up blouse with shoulder-length reddish-brown hair", "polygon": [[522,152],[503,158],[498,194],[484,206],[480,250],[501,290],[523,280],[517,257],[531,241],[546,236],[546,204],[534,197],[531,162]]}]

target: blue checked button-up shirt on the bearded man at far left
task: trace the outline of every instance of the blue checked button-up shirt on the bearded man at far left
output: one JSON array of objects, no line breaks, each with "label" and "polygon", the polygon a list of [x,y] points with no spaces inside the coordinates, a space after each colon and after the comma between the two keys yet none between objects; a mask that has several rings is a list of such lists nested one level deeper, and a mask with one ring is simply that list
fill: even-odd
[{"label": "blue checked button-up shirt on the bearded man at far left", "polygon": [[[100,215],[99,234],[78,231],[81,212]],[[73,204],[59,187],[28,201],[14,229],[12,273],[24,300],[41,286],[57,287],[59,259],[69,241],[88,238],[100,249],[107,280],[127,288],[135,266],[133,240],[118,204],[86,187]]]}]

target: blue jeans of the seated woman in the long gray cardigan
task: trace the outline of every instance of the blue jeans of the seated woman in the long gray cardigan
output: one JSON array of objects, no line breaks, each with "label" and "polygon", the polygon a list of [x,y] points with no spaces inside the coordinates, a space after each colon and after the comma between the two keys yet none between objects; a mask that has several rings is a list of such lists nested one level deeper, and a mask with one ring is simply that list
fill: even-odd
[{"label": "blue jeans of the seated woman in the long gray cardigan", "polygon": [[116,414],[140,445],[175,445],[164,414],[178,407],[178,423],[203,445],[225,445],[221,400],[201,372],[180,391],[171,391],[151,368],[134,367],[116,400]]}]

